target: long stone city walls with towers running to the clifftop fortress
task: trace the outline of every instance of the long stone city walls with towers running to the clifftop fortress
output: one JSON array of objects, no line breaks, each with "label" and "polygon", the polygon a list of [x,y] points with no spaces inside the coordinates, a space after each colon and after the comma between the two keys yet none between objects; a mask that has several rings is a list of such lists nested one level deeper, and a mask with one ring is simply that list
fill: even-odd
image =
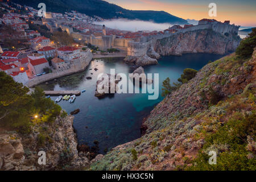
[{"label": "long stone city walls with towers running to the clifftop fortress", "polygon": [[[52,22],[52,19],[43,19],[43,24],[53,32],[56,31],[57,28],[61,28],[62,31],[67,31],[69,35],[72,35],[73,39],[79,40],[83,43],[90,43],[93,46],[99,47],[101,50],[106,51],[109,48],[116,48],[123,52],[127,52],[127,56],[142,56],[146,54],[155,54],[154,45],[156,40],[163,39],[166,37],[170,37],[172,35],[179,34],[180,32],[187,31],[196,31],[196,30],[204,30],[210,29],[220,34],[232,34],[237,35],[238,29],[240,26],[236,26],[234,24],[230,24],[229,20],[225,22],[218,22],[215,19],[201,19],[199,20],[199,24],[193,26],[191,24],[185,24],[184,27],[179,25],[174,25],[169,27],[167,30],[163,32],[156,32],[154,35],[144,35],[144,36],[131,36],[129,38],[120,38],[116,35],[106,34],[106,27],[103,25],[94,24],[94,26],[98,27],[98,29],[102,29],[101,31],[93,31],[93,32],[75,32],[73,27],[67,26],[67,21],[55,20]],[[102,27],[102,28],[101,28]],[[153,56],[153,57],[158,57]]]}]

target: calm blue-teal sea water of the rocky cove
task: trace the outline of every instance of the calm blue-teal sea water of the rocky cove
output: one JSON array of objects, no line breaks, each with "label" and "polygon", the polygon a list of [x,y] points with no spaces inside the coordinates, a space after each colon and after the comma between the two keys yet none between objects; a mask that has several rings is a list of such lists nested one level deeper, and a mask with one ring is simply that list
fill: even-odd
[{"label": "calm blue-teal sea water of the rocky cove", "polygon": [[[114,94],[102,99],[94,97],[97,75],[110,73],[114,68],[115,73],[132,73],[135,67],[123,63],[123,58],[93,60],[89,67],[80,73],[58,78],[57,81],[48,81],[40,84],[44,90],[82,90],[74,103],[61,101],[59,105],[68,113],[80,109],[75,115],[73,126],[77,132],[79,144],[93,146],[93,141],[100,142],[100,152],[105,148],[112,148],[118,144],[130,142],[141,137],[140,127],[142,119],[150,114],[154,105],[163,100],[160,96],[162,82],[167,77],[171,82],[177,78],[185,68],[201,69],[209,61],[220,59],[222,55],[205,53],[186,54],[183,56],[164,56],[159,59],[159,64],[144,67],[145,73],[159,73],[159,98],[148,100],[147,94]],[[97,68],[98,71],[94,71]],[[92,77],[87,80],[86,77]],[[56,97],[51,97],[55,100]]]}]

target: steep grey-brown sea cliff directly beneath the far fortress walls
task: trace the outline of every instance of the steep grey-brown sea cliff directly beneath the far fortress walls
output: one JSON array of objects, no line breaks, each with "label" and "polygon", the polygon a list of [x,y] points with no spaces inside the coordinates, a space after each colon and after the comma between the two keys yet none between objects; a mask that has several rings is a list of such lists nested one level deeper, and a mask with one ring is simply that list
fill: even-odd
[{"label": "steep grey-brown sea cliff directly beneath the far fortress walls", "polygon": [[237,35],[222,35],[208,29],[188,31],[157,40],[155,51],[163,56],[180,56],[183,53],[214,53],[224,55],[235,51],[240,40]]}]

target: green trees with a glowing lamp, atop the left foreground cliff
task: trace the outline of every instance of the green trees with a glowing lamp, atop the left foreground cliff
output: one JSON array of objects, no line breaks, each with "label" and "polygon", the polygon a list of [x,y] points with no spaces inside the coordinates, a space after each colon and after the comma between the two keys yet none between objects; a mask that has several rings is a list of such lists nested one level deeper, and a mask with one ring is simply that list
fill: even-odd
[{"label": "green trees with a glowing lamp, atop the left foreground cliff", "polygon": [[[15,82],[5,72],[0,72],[0,126],[20,133],[30,133],[35,123],[52,122],[60,114],[61,107],[44,96],[36,87],[32,94],[23,84]],[[34,115],[39,118],[34,119]]]}]

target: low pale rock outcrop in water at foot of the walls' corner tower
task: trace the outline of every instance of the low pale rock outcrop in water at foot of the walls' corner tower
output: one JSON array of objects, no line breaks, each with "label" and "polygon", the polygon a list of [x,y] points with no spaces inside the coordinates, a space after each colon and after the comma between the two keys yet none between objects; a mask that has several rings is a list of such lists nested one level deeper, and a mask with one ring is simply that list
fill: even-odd
[{"label": "low pale rock outcrop in water at foot of the walls' corner tower", "polygon": [[124,61],[126,63],[135,64],[138,66],[150,65],[150,64],[158,64],[158,60],[151,58],[147,55],[143,56],[126,56]]}]

